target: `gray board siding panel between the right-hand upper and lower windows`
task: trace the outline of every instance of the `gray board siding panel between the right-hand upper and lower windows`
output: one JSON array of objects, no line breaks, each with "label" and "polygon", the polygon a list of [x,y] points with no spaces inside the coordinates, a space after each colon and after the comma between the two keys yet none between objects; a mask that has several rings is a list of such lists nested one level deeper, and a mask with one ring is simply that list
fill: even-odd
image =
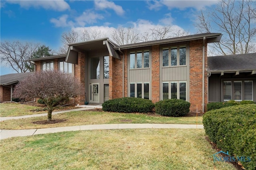
[{"label": "gray board siding panel between the right-hand upper and lower windows", "polygon": [[187,80],[187,66],[162,68],[162,81]]}]

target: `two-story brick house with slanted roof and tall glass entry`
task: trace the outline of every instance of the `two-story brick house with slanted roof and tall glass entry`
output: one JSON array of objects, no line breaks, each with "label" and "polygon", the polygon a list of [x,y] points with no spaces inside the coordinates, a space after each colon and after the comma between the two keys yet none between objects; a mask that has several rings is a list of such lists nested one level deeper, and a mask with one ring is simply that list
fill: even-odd
[{"label": "two-story brick house with slanted roof and tall glass entry", "polygon": [[[63,70],[80,81],[84,104],[122,97],[158,102],[168,98],[205,111],[208,103],[207,43],[220,33],[202,33],[118,46],[108,38],[70,44],[67,54],[31,59],[40,70]],[[60,84],[61,85],[61,84]],[[86,98],[85,98],[86,93]]]}]

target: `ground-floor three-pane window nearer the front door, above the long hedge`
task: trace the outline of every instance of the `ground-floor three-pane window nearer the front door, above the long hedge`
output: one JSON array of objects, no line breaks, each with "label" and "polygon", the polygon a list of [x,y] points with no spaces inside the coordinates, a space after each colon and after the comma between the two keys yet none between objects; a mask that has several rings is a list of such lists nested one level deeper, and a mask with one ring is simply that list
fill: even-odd
[{"label": "ground-floor three-pane window nearer the front door, above the long hedge", "polygon": [[149,82],[130,83],[130,97],[149,99]]}]

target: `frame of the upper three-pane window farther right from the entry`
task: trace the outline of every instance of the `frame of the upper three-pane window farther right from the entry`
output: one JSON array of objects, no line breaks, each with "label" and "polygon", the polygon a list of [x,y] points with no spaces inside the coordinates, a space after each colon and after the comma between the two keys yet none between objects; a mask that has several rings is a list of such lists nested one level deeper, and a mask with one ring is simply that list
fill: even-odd
[{"label": "frame of the upper three-pane window farther right from the entry", "polygon": [[[186,64],[181,65],[180,64],[180,49],[185,48],[186,49]],[[164,66],[164,58],[163,58],[163,51],[168,49],[168,66]],[[176,65],[172,66],[172,49],[177,49],[177,59],[176,59]],[[162,67],[178,67],[178,66],[187,66],[187,45],[176,45],[176,46],[170,46],[170,47],[162,47]],[[166,64],[165,64],[166,65]]]}]

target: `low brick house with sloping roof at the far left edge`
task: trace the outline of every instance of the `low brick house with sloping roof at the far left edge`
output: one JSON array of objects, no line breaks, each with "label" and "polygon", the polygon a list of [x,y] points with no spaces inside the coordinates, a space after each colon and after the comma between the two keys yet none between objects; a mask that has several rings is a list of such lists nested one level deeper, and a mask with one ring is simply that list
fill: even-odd
[{"label": "low brick house with sloping roof at the far left edge", "polygon": [[15,85],[32,74],[34,74],[34,72],[22,72],[0,76],[0,102],[11,102]]}]

